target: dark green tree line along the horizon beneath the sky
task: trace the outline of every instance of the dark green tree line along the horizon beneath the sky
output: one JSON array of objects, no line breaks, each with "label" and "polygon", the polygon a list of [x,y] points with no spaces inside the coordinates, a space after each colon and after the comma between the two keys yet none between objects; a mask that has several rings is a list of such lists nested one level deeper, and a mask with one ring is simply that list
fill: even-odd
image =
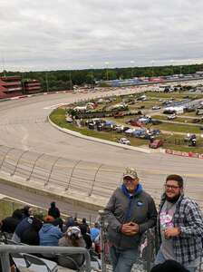
[{"label": "dark green tree line along the horizon beneath the sky", "polygon": [[202,64],[168,65],[149,67],[127,67],[84,70],[58,70],[38,72],[10,72],[4,71],[0,76],[20,75],[23,80],[36,79],[42,84],[43,91],[71,90],[73,85],[94,85],[98,81],[130,79],[133,77],[156,77],[171,74],[190,74],[203,71]]}]

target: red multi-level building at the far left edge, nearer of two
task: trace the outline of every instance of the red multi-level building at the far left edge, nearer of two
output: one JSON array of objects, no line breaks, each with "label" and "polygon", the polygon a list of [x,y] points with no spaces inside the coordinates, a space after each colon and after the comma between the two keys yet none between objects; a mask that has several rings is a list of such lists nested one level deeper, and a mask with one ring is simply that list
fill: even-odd
[{"label": "red multi-level building at the far left edge, nearer of two", "polygon": [[22,91],[20,76],[0,77],[0,99],[22,95]]}]

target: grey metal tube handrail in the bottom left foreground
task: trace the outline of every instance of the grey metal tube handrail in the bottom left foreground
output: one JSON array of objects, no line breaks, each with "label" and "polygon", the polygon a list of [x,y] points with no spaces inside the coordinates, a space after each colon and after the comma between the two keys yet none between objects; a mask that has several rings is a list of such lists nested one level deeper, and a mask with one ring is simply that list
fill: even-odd
[{"label": "grey metal tube handrail in the bottom left foreground", "polygon": [[91,257],[86,248],[0,245],[2,271],[10,272],[10,253],[83,254],[85,271],[91,272]]}]

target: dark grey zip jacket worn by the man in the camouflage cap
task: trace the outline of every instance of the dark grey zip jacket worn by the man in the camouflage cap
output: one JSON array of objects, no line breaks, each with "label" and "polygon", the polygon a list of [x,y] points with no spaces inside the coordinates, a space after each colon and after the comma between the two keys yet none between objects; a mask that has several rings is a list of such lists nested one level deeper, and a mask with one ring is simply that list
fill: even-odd
[{"label": "dark grey zip jacket worn by the man in the camouflage cap", "polygon": [[[117,188],[104,211],[109,223],[108,239],[116,248],[138,248],[141,234],[156,224],[157,209],[154,200],[142,190],[140,184],[132,195],[123,185]],[[121,233],[122,224],[130,221],[137,223],[140,228],[139,233],[134,236]]]}]

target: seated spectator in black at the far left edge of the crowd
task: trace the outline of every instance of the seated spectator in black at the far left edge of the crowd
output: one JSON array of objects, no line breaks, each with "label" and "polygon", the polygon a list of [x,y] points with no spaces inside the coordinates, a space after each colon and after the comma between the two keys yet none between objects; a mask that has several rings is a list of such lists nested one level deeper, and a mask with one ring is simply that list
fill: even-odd
[{"label": "seated spectator in black at the far left edge of the crowd", "polygon": [[1,231],[7,233],[14,233],[14,229],[23,219],[21,209],[15,209],[11,217],[7,217],[2,220]]}]

